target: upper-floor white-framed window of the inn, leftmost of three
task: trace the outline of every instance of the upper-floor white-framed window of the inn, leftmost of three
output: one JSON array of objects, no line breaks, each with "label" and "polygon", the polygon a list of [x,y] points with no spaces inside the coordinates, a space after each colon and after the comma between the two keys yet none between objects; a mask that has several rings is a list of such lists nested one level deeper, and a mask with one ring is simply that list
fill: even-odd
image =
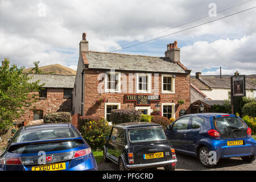
[{"label": "upper-floor white-framed window of the inn, leftmost of three", "polygon": [[105,93],[121,92],[121,73],[106,72],[105,74]]}]

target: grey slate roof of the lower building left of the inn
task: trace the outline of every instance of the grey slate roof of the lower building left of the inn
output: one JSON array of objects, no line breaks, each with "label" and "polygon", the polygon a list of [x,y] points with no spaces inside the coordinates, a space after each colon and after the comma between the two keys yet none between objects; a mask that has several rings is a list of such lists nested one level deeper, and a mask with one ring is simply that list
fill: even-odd
[{"label": "grey slate roof of the lower building left of the inn", "polygon": [[76,75],[29,75],[32,78],[28,82],[39,81],[44,83],[44,88],[74,88]]}]

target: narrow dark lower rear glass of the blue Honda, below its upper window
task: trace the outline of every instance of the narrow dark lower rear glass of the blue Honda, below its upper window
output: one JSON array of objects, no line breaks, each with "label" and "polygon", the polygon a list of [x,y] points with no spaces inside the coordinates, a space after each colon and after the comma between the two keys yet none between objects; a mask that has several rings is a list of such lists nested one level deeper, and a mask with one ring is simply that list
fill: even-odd
[{"label": "narrow dark lower rear glass of the blue Honda, below its upper window", "polygon": [[15,144],[10,146],[8,152],[18,153],[18,154],[32,154],[38,153],[39,151],[50,152],[50,151],[60,151],[68,150],[71,148],[79,147],[83,144],[80,139],[70,139],[70,140],[60,140],[51,142],[39,142],[39,143],[25,143],[25,144]]}]

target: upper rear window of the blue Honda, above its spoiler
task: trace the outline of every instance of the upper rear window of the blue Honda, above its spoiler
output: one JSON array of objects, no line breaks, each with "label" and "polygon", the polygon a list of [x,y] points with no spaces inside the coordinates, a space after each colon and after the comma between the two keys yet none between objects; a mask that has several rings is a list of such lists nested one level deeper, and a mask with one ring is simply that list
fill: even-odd
[{"label": "upper rear window of the blue Honda, above its spoiler", "polygon": [[20,131],[13,139],[13,143],[76,137],[80,137],[80,135],[71,127],[44,127]]}]

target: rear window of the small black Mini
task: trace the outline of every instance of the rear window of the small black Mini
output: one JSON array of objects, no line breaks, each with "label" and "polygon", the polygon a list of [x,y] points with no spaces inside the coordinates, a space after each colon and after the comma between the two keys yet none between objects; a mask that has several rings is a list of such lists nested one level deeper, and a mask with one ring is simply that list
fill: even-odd
[{"label": "rear window of the small black Mini", "polygon": [[130,142],[150,142],[166,140],[163,130],[160,128],[134,129],[129,131]]}]

